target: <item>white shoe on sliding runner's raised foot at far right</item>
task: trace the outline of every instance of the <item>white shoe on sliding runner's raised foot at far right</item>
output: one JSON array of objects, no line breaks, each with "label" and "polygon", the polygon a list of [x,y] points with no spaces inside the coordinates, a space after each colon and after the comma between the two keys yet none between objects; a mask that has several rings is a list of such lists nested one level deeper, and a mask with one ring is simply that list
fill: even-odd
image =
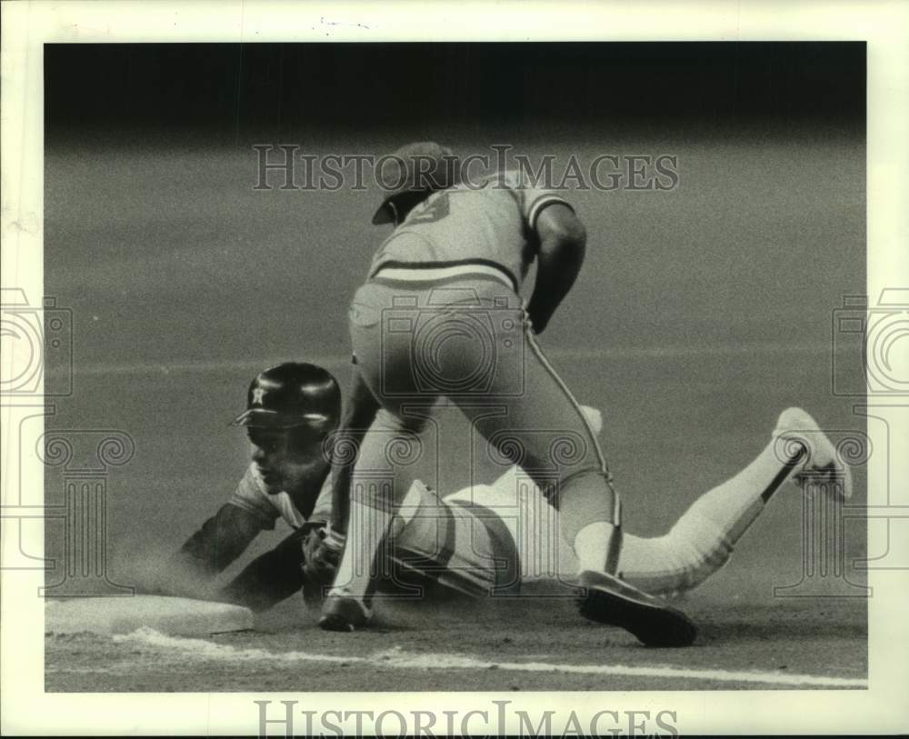
[{"label": "white shoe on sliding runner's raised foot at far right", "polygon": [[796,468],[792,480],[799,487],[820,485],[828,495],[852,496],[852,471],[837,454],[827,434],[802,408],[786,408],[776,422],[775,451],[781,461]]}]

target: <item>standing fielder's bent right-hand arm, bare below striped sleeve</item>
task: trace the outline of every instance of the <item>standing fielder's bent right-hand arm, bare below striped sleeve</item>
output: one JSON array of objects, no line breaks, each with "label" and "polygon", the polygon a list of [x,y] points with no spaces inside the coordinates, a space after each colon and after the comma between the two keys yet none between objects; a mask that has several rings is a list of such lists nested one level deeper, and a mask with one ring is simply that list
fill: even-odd
[{"label": "standing fielder's bent right-hand arm, bare below striped sleeve", "polygon": [[587,234],[571,207],[558,202],[540,211],[535,229],[540,247],[536,284],[527,314],[534,324],[534,332],[541,334],[581,271]]}]

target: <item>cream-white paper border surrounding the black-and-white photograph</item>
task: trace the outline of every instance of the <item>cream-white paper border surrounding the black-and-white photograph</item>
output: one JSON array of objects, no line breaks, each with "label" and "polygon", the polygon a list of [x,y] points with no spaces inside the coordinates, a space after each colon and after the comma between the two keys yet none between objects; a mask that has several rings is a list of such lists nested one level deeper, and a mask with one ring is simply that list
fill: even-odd
[{"label": "cream-white paper border surrounding the black-and-white photograph", "polygon": [[[279,3],[279,2],[4,2],[2,5],[3,285],[43,292],[44,43],[278,41],[806,41],[868,43],[868,295],[909,286],[909,5],[899,2],[677,3]],[[902,245],[902,246],[900,246]],[[33,298],[34,299],[34,298]],[[35,401],[40,407],[42,401]],[[16,409],[0,409],[5,429]],[[875,449],[887,446],[874,438]],[[890,449],[909,448],[903,425],[891,427]],[[893,455],[891,455],[893,456]],[[22,468],[5,431],[4,503],[18,500],[13,482],[41,499],[43,470]],[[880,455],[869,469],[869,502],[884,501],[887,475],[907,479],[906,461]],[[881,464],[881,463],[884,464]],[[37,495],[34,498],[34,495]],[[4,561],[12,556],[5,538]],[[27,549],[43,552],[40,536]],[[869,550],[871,551],[871,550]],[[872,571],[870,688],[867,691],[704,691],[559,694],[45,694],[44,613],[36,597],[41,571],[2,573],[2,729],[4,734],[256,734],[254,699],[298,700],[298,707],[381,711],[416,707],[567,714],[673,710],[683,734],[893,733],[909,730],[906,612],[909,575]],[[415,698],[419,696],[419,700]],[[435,697],[434,697],[435,696]],[[901,697],[902,696],[902,697]],[[100,725],[99,725],[100,724]],[[516,726],[503,727],[514,731]]]}]

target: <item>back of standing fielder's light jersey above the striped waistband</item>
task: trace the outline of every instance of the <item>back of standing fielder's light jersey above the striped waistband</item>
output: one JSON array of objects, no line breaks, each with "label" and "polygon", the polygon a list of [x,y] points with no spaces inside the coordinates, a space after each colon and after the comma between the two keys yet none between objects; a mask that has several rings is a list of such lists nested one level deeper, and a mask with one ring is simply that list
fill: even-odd
[{"label": "back of standing fielder's light jersey above the striped waistband", "polygon": [[395,228],[375,255],[383,267],[494,265],[519,289],[534,260],[535,216],[561,197],[529,185],[517,172],[489,175],[430,195]]}]

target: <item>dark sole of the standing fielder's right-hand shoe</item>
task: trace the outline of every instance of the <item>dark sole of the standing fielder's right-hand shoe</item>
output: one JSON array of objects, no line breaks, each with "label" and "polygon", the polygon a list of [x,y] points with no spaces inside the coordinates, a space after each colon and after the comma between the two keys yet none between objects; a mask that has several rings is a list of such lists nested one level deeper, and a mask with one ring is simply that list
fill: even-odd
[{"label": "dark sole of the standing fielder's right-hand shoe", "polygon": [[578,603],[584,618],[619,626],[646,646],[690,646],[697,638],[691,619],[668,605],[634,600],[595,584],[585,587],[587,595]]}]

